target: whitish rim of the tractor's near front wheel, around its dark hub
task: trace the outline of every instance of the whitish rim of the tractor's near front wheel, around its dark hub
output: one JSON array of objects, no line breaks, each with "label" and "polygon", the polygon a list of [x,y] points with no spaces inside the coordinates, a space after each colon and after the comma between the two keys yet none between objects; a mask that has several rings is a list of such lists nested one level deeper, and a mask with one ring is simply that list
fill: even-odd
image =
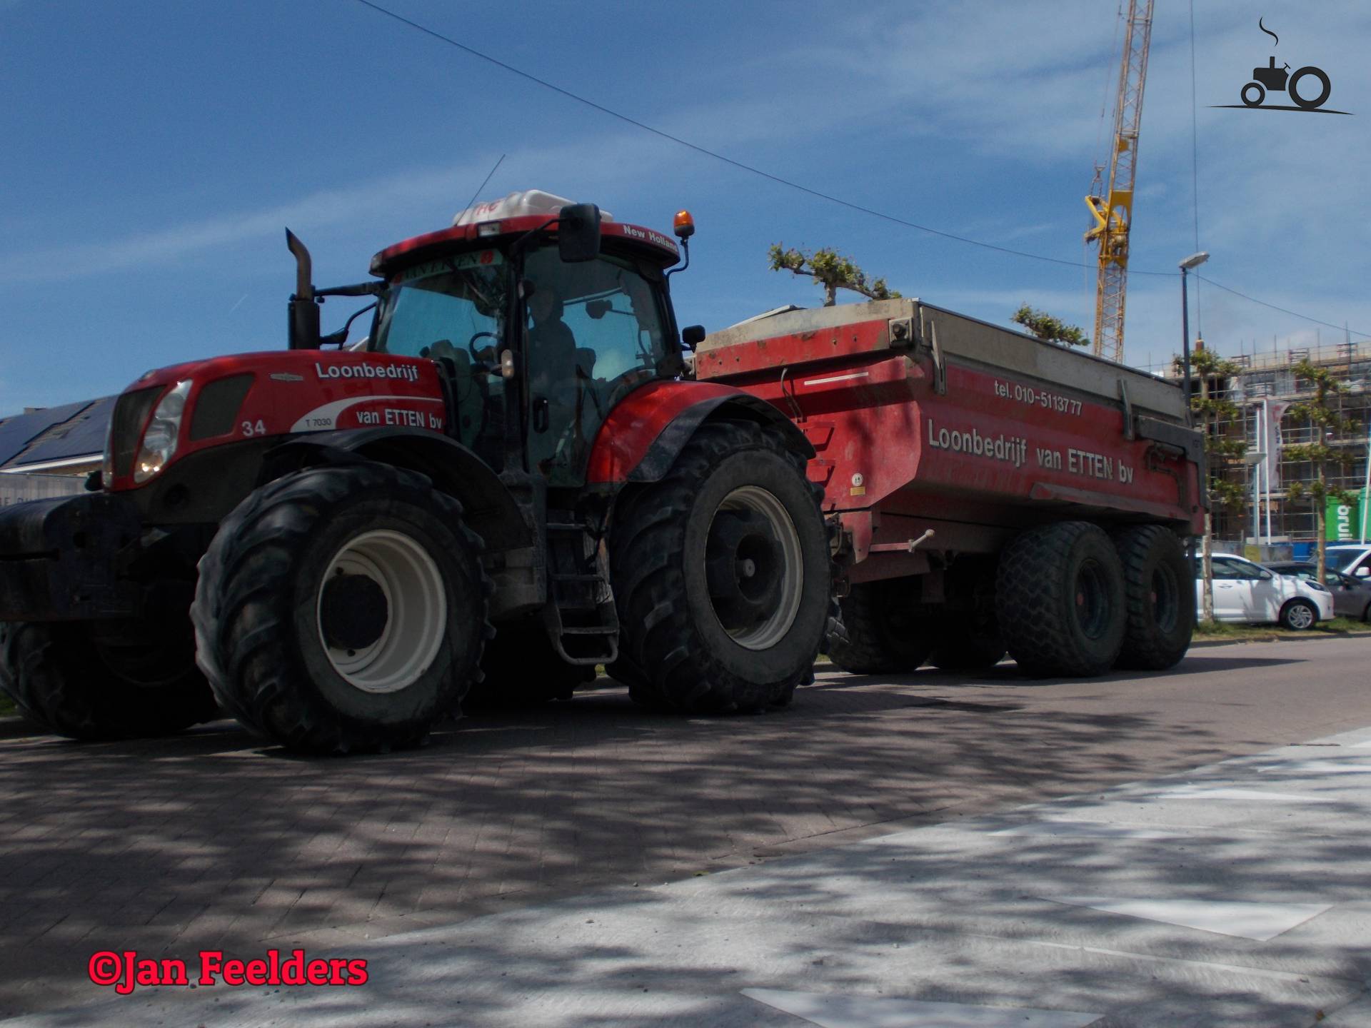
[{"label": "whitish rim of the tractor's near front wheel, around its dark hub", "polygon": [[[348,650],[324,635],[324,585],[361,574],[385,595],[385,628],[370,646]],[[398,692],[433,663],[447,625],[447,591],[437,563],[410,536],[377,529],[354,536],[333,555],[314,599],[319,643],[344,681],[363,692]]]}]

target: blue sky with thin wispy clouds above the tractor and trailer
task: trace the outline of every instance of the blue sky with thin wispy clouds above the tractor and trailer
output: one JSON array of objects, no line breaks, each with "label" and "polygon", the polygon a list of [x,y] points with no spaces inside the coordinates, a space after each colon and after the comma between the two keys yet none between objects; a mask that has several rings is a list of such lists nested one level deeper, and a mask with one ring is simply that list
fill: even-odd
[{"label": "blue sky with thin wispy clouds above the tractor and trailer", "polygon": [[[945,232],[1090,259],[1082,197],[1108,143],[1113,3],[385,0],[665,132]],[[1371,330],[1371,7],[1204,0],[1194,11],[1201,271]],[[1259,14],[1281,36],[1257,29]],[[1318,64],[1327,107],[1238,103],[1271,53]],[[1196,249],[1190,7],[1157,0],[1132,267]],[[772,243],[835,247],[906,295],[1008,322],[1093,322],[1094,273],[899,228],[684,149],[407,29],[356,0],[0,0],[0,415],[118,392],[149,367],[284,345],[293,266],[366,278],[373,252],[481,199],[540,188],[658,229],[695,214],[681,323],[723,328],[808,281]],[[1341,332],[1200,286],[1223,354]],[[1179,284],[1132,276],[1127,359],[1180,339]],[[343,304],[325,307],[325,328]],[[359,321],[358,325],[362,322]]]}]

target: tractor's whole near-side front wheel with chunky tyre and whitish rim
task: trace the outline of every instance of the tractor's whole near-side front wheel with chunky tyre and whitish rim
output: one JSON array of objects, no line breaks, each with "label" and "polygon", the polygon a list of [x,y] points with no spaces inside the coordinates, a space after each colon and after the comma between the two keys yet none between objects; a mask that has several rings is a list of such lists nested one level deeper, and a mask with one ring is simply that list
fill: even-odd
[{"label": "tractor's whole near-side front wheel with chunky tyre and whitish rim", "polygon": [[421,743],[478,674],[489,583],[462,507],[381,463],[252,492],[200,561],[192,617],[215,696],[304,752]]}]

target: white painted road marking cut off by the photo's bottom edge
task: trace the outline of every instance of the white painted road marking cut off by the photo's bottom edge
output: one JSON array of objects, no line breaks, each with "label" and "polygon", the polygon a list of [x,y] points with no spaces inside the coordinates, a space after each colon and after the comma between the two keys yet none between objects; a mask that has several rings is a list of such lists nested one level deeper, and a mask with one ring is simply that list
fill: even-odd
[{"label": "white painted road marking cut off by the photo's bottom edge", "polygon": [[823,1028],[1084,1028],[1104,1014],[1034,1010],[1017,1006],[968,1006],[895,996],[845,996],[744,988],[758,1003],[803,1017]]}]

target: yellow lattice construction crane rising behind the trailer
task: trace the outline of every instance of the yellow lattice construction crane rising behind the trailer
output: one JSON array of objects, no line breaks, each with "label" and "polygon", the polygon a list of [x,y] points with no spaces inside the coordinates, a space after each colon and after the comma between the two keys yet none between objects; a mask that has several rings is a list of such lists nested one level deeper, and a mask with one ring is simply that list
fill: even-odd
[{"label": "yellow lattice construction crane rising behind the trailer", "polygon": [[1128,229],[1132,226],[1132,177],[1138,163],[1138,126],[1142,122],[1142,88],[1148,81],[1148,47],[1152,42],[1153,0],[1128,0],[1115,106],[1113,154],[1109,184],[1101,188],[1102,167],[1086,206],[1095,218],[1087,243],[1100,244],[1100,278],[1095,286],[1095,356],[1123,360],[1123,302],[1128,286]]}]

